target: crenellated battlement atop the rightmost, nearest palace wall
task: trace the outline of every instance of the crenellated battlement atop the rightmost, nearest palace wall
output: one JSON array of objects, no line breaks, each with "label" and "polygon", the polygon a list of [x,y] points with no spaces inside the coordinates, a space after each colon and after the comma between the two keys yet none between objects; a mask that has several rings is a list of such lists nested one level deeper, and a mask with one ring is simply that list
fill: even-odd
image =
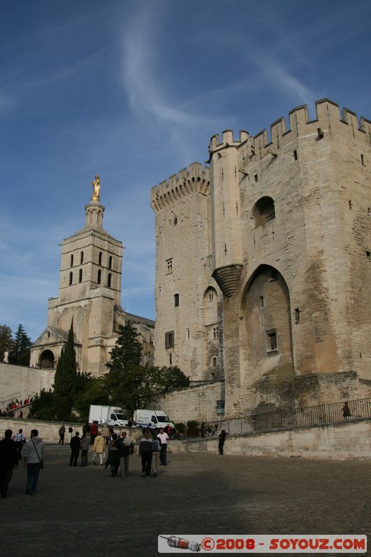
[{"label": "crenellated battlement atop the rightmost, nearest palace wall", "polygon": [[[328,132],[348,135],[365,145],[371,144],[371,120],[361,116],[359,118],[353,111],[342,109],[336,102],[329,99],[317,100],[315,103],[316,118],[310,120],[307,105],[292,109],[289,113],[287,128],[286,120],[282,116],[271,124],[270,134],[262,130],[255,136],[248,136],[246,141],[246,155],[251,159],[277,154],[278,149],[301,136],[314,134],[322,139]],[[213,136],[212,141],[215,143]],[[213,144],[214,144],[213,143]],[[211,145],[212,143],[210,143]],[[244,143],[237,146],[240,148]]]}]

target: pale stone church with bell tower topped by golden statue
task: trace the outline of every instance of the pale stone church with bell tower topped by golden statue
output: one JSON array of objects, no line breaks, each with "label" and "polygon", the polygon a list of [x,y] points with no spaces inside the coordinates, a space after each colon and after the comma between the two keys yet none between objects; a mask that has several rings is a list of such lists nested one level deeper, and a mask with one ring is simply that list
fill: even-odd
[{"label": "pale stone church with bell tower topped by golden statue", "polygon": [[73,320],[79,370],[107,371],[118,326],[130,321],[143,343],[143,362],[153,360],[155,322],[120,306],[123,244],[103,228],[100,178],[85,207],[84,227],[62,243],[59,295],[49,298],[47,327],[31,348],[31,367],[54,369]]}]

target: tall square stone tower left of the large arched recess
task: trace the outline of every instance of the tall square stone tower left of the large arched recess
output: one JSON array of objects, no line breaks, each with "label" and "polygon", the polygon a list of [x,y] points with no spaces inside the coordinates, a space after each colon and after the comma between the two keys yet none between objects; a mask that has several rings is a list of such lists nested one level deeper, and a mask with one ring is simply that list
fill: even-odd
[{"label": "tall square stone tower left of the large arched recess", "polygon": [[151,191],[156,214],[157,366],[194,381],[221,374],[221,293],[212,278],[209,168],[194,162]]}]

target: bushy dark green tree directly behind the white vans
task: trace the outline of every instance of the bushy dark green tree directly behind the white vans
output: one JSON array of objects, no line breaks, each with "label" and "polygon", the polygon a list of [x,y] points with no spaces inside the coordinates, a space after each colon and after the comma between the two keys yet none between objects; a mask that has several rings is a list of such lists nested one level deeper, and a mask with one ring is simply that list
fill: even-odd
[{"label": "bushy dark green tree directly behind the white vans", "polygon": [[141,365],[142,346],[137,336],[132,324],[120,327],[111,361],[106,363],[109,372],[104,376],[110,400],[130,412],[148,407],[160,393],[189,385],[189,378],[179,368]]}]

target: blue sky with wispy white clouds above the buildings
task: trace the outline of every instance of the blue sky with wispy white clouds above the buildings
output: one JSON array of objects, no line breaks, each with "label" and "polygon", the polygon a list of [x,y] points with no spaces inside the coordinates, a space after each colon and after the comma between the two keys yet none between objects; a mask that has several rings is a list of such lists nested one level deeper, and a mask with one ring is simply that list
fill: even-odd
[{"label": "blue sky with wispy white clouds above the buildings", "polygon": [[370,29],[368,0],[0,1],[0,324],[45,328],[95,173],[122,306],[155,318],[150,187],[300,104],[371,118]]}]

